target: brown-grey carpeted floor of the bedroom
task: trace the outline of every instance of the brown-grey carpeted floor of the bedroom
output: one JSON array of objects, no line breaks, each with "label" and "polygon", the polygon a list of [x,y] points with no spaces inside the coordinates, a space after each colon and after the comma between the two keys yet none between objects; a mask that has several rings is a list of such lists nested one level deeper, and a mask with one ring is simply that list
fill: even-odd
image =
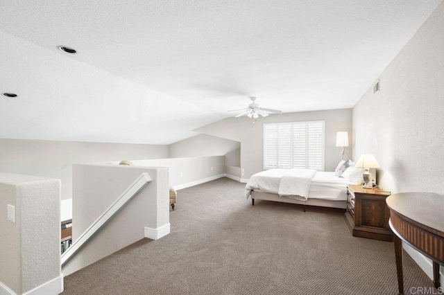
[{"label": "brown-grey carpeted floor of the bedroom", "polygon": [[[398,294],[393,243],[352,237],[332,209],[251,206],[244,186],[179,190],[169,235],[65,277],[63,294]],[[404,285],[432,287],[407,253]]]}]

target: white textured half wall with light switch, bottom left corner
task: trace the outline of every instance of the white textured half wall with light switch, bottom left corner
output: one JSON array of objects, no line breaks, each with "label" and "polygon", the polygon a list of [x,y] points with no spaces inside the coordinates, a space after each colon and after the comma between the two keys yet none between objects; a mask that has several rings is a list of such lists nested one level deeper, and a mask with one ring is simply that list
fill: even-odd
[{"label": "white textured half wall with light switch, bottom left corner", "polygon": [[0,172],[0,208],[0,294],[62,292],[60,180]]}]

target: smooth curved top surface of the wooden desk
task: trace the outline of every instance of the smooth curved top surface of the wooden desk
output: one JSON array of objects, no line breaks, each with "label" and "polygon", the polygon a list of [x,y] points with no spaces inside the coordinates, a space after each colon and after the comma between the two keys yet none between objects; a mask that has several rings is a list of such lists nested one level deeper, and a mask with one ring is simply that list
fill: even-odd
[{"label": "smooth curved top surface of the wooden desk", "polygon": [[399,193],[386,199],[388,208],[444,235],[444,195]]}]

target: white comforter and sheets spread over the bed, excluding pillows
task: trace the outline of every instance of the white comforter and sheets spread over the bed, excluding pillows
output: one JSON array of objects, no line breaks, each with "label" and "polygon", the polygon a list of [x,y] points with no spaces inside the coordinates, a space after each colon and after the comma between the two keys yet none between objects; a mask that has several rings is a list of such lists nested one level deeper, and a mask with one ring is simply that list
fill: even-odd
[{"label": "white comforter and sheets spread over the bed, excluding pillows", "polygon": [[[286,195],[286,197],[300,199],[302,201],[309,198],[328,199],[332,201],[344,201],[347,199],[348,181],[342,177],[336,177],[336,175],[334,175],[334,172],[315,172],[314,176],[311,178],[308,194],[306,196],[291,194],[291,192],[288,191],[288,189],[291,188],[289,188],[288,186],[287,188],[280,190],[281,179],[282,177],[284,177],[284,179],[287,178],[289,170],[293,169],[270,169],[253,175],[248,180],[248,183],[245,187],[246,197],[250,197],[251,191],[255,190],[263,193]],[[287,180],[290,179],[287,178]],[[295,186],[297,186],[296,182]],[[296,188],[294,192],[300,192],[300,188]],[[291,195],[288,195],[289,193]]]}]

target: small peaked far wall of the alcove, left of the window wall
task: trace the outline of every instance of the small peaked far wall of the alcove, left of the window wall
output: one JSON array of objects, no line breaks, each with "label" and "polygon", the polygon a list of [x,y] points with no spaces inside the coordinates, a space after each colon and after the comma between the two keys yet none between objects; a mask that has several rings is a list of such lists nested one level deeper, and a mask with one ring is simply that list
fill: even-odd
[{"label": "small peaked far wall of the alcove, left of the window wall", "polygon": [[239,141],[232,141],[208,134],[198,134],[169,145],[169,157],[186,158],[225,155],[225,165],[239,166],[240,147],[241,143]]}]

